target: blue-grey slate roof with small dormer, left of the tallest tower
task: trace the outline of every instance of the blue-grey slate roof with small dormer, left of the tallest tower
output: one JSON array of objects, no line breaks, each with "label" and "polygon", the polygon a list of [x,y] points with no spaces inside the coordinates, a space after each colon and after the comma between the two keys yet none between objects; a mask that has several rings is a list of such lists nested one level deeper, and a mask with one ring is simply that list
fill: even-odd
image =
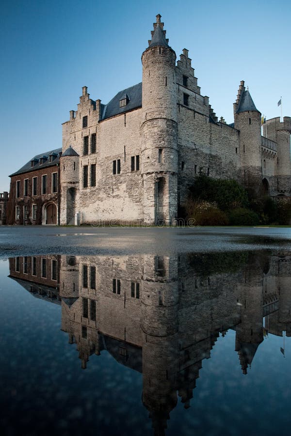
[{"label": "blue-grey slate roof with small dormer, left of the tallest tower", "polygon": [[[125,94],[128,97],[127,105],[123,108],[119,108],[119,100],[125,98]],[[101,105],[102,106],[102,105]],[[104,106],[101,120],[113,117],[120,113],[128,112],[131,109],[142,107],[142,82],[137,85],[130,86],[130,88],[119,91],[110,102]]]}]

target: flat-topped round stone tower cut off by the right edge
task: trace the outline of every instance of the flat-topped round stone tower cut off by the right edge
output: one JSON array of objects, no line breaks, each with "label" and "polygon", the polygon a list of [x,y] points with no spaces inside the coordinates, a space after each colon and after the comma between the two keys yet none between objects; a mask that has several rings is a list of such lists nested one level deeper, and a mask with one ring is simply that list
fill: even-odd
[{"label": "flat-topped round stone tower cut off by the right edge", "polygon": [[272,118],[266,122],[268,139],[277,143],[277,162],[275,165],[275,187],[278,193],[290,194],[291,155],[290,134],[291,118],[284,117],[283,123],[280,117]]}]

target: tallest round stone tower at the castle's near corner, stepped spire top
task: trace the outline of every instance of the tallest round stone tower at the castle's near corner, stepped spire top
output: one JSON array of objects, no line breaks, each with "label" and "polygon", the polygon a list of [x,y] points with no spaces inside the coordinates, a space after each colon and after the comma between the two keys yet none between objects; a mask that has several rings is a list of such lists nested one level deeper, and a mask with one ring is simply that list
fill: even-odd
[{"label": "tallest round stone tower at the castle's near corner, stepped spire top", "polygon": [[177,218],[178,116],[176,53],[157,15],[149,46],[142,54],[142,180],[144,220],[171,224]]}]

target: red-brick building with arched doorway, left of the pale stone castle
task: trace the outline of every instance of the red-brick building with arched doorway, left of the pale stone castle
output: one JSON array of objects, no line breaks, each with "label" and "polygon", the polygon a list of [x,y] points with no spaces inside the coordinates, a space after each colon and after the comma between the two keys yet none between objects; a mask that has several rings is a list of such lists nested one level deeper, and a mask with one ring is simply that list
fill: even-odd
[{"label": "red-brick building with arched doorway, left of the pale stone castle", "polygon": [[62,149],[34,156],[11,174],[8,224],[58,224]]}]

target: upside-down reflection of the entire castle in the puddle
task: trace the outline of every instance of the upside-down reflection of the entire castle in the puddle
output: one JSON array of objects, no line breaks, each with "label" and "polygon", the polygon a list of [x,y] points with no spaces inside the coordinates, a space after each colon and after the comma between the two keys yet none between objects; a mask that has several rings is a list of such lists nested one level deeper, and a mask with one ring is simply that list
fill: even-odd
[{"label": "upside-down reflection of the entire castle in the puddle", "polygon": [[[247,373],[265,328],[291,336],[291,256],[228,253],[10,259],[13,277],[62,304],[62,329],[82,368],[107,350],[143,373],[143,403],[162,435],[178,396],[187,408],[202,360],[236,331]],[[265,322],[265,327],[263,327]]]}]

